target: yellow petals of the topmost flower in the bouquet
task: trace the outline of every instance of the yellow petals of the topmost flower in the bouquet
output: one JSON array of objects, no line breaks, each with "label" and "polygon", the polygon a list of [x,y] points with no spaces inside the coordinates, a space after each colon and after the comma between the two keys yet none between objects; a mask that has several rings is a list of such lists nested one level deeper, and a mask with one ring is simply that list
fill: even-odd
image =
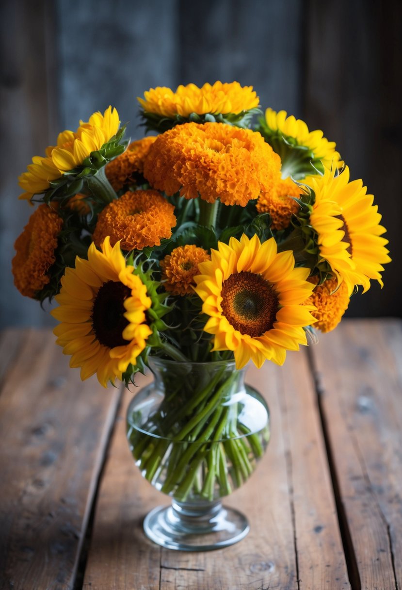
[{"label": "yellow petals of the topmost flower in the bouquet", "polygon": [[144,93],[144,99],[137,98],[144,111],[172,118],[179,114],[188,117],[197,114],[241,113],[258,107],[259,98],[252,86],[240,86],[238,82],[195,84],[179,86],[176,92],[170,88],[151,88]]}]

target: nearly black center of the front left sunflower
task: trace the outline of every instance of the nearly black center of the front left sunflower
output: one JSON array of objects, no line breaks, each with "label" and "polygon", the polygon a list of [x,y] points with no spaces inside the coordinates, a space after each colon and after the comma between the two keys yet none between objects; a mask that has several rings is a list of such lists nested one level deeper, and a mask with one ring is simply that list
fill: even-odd
[{"label": "nearly black center of the front left sunflower", "polygon": [[92,308],[92,324],[97,340],[107,346],[124,346],[128,340],[122,336],[128,320],[124,317],[124,300],[130,297],[131,290],[114,281],[104,283],[95,297]]}]

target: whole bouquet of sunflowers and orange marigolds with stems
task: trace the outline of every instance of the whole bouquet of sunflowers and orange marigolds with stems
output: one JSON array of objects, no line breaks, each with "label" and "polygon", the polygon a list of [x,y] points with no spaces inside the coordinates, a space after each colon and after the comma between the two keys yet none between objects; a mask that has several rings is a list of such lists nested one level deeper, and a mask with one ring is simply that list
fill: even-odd
[{"label": "whole bouquet of sunflowers and orange marigolds with stems", "polygon": [[[158,87],[138,100],[157,135],[124,140],[108,107],[60,133],[19,177],[20,198],[38,206],[15,242],[15,286],[54,297],[57,343],[82,379],[127,385],[150,358],[282,365],[315,329],[334,329],[360,288],[383,285],[390,258],[373,195],[321,131],[284,111],[263,115],[237,82]],[[214,379],[192,383],[176,417],[161,410],[151,428],[200,445],[233,435],[216,411],[233,378]],[[229,493],[228,457],[246,479],[261,440],[234,436],[242,442],[209,455],[182,448],[167,492],[195,493],[184,464],[202,460],[205,497],[214,483]],[[151,480],[166,448],[137,432],[133,449]]]}]

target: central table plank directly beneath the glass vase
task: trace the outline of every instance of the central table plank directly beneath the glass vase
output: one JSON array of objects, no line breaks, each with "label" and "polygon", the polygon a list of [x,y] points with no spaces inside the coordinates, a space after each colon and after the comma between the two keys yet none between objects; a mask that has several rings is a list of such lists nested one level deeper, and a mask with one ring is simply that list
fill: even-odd
[{"label": "central table plank directly beneath the glass vase", "polygon": [[349,588],[314,388],[299,355],[289,355],[284,369],[266,363],[249,370],[248,381],[268,399],[273,436],[251,481],[225,499],[251,523],[249,535],[232,547],[183,553],[146,539],[143,517],[169,501],[134,467],[122,416],[98,495],[85,589]]}]

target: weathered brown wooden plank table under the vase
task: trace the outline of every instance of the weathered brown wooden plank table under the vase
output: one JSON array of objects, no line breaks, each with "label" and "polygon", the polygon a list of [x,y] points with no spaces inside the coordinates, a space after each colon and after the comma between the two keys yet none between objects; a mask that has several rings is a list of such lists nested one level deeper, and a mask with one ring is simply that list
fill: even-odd
[{"label": "weathered brown wooden plank table under the vase", "polygon": [[283,368],[249,369],[272,439],[226,501],[251,532],[209,553],[143,534],[144,515],[169,500],[128,451],[132,393],[81,383],[48,331],[6,331],[0,589],[401,590],[401,326],[344,320]]}]

